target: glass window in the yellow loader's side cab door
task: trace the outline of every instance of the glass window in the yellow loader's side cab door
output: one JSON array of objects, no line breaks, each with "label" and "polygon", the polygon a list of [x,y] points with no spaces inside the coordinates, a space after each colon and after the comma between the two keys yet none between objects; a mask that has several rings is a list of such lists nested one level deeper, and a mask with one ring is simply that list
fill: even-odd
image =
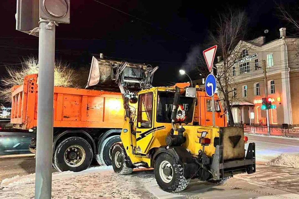
[{"label": "glass window in the yellow loader's side cab door", "polygon": [[137,122],[140,128],[151,128],[153,118],[153,93],[139,95]]}]

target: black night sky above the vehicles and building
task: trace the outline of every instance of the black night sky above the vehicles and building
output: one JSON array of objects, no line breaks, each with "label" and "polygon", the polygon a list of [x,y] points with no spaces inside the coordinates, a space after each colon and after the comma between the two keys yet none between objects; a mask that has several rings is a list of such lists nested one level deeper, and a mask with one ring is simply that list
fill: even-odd
[{"label": "black night sky above the vehicles and building", "polygon": [[[142,20],[93,0],[71,0],[71,23],[56,27],[55,58],[69,62],[74,68],[85,66],[87,70],[92,54],[99,53],[158,65],[154,85],[188,81],[186,76],[178,75],[181,67],[187,69],[192,79],[201,78],[185,60],[192,49],[202,50],[218,13],[225,12],[228,6],[245,9],[249,27],[247,39],[262,35],[267,41],[277,39],[279,28],[288,27],[278,18],[272,0],[237,1],[238,4],[235,1],[207,1],[206,4],[203,1],[99,1]],[[294,2],[297,1],[283,1],[290,7]],[[38,38],[15,30],[16,0],[2,0],[0,5],[1,78],[5,75],[3,65],[20,63],[22,57],[38,56]],[[265,29],[269,30],[268,34],[264,33]]]}]

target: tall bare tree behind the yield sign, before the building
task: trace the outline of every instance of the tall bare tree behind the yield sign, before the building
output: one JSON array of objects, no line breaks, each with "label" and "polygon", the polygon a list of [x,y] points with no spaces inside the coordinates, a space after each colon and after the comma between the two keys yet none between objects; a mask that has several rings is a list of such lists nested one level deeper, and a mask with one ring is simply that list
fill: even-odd
[{"label": "tall bare tree behind the yield sign, before the building", "polygon": [[240,58],[244,45],[242,40],[245,35],[246,21],[244,11],[233,12],[229,9],[227,13],[219,15],[215,31],[210,33],[211,42],[218,46],[217,51],[220,52],[219,55],[222,57],[222,61],[217,64],[217,89],[223,95],[230,126],[234,126],[231,111],[233,97],[230,94],[234,85],[232,68],[235,66],[236,60]]}]

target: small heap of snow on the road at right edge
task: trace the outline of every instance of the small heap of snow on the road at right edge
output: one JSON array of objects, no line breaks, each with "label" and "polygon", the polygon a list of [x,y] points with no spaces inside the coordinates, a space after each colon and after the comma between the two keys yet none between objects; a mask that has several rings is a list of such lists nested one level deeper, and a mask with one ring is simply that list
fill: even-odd
[{"label": "small heap of snow on the road at right edge", "polygon": [[283,153],[278,157],[268,161],[266,165],[292,167],[299,169],[299,156]]}]

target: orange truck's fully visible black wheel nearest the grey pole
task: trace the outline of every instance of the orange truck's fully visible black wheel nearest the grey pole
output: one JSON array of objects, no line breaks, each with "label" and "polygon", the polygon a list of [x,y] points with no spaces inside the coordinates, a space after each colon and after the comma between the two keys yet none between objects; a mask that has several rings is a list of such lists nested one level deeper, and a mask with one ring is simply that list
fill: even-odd
[{"label": "orange truck's fully visible black wheel nearest the grey pole", "polygon": [[54,153],[55,169],[79,172],[87,169],[93,160],[93,150],[81,137],[69,137],[59,143]]}]

